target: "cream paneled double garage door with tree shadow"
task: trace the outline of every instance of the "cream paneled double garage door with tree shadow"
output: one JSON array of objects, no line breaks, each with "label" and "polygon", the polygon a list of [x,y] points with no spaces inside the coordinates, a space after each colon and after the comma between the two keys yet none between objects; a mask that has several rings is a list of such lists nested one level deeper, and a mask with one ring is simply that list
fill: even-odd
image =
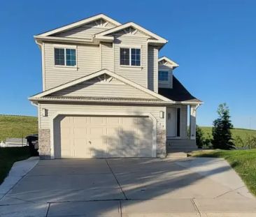
[{"label": "cream paneled double garage door with tree shadow", "polygon": [[149,117],[65,116],[59,133],[61,158],[152,157]]}]

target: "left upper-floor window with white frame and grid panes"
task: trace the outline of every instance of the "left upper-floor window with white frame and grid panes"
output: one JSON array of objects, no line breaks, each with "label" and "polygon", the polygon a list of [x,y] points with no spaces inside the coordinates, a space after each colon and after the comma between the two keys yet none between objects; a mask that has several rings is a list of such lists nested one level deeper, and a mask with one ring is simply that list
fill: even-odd
[{"label": "left upper-floor window with white frame and grid panes", "polygon": [[76,49],[55,47],[55,66],[76,66]]}]

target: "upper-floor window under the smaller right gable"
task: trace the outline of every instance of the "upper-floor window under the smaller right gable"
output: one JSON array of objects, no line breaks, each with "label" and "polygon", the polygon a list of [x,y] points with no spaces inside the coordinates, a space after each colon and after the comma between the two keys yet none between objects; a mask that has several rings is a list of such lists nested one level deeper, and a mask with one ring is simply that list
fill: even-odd
[{"label": "upper-floor window under the smaller right gable", "polygon": [[120,48],[120,65],[141,66],[141,49]]}]

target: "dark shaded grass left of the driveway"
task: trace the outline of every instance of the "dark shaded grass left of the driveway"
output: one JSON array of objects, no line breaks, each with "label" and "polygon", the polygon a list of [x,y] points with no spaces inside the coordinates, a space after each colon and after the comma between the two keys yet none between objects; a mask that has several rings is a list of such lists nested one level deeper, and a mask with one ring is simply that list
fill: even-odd
[{"label": "dark shaded grass left of the driveway", "polygon": [[29,147],[0,148],[0,184],[8,175],[13,163],[29,158]]}]

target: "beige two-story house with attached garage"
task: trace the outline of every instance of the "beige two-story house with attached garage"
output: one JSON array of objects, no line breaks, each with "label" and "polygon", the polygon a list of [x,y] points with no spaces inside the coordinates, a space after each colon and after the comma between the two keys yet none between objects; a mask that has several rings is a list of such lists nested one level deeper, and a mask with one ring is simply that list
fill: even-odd
[{"label": "beige two-story house with attached garage", "polygon": [[165,157],[172,142],[195,144],[202,102],[173,75],[178,64],[159,58],[166,39],[103,14],[34,38],[41,158]]}]

